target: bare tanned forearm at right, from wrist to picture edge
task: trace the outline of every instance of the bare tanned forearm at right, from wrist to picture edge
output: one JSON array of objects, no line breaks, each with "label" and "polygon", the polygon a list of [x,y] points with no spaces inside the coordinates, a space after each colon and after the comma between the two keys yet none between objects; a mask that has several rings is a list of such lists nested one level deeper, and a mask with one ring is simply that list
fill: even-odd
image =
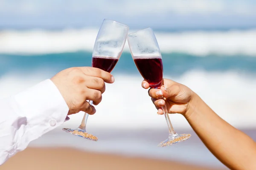
[{"label": "bare tanned forearm at right, from wrist to picture edge", "polygon": [[234,170],[256,169],[256,143],[249,136],[221,119],[195,94],[186,116],[207,148]]}]

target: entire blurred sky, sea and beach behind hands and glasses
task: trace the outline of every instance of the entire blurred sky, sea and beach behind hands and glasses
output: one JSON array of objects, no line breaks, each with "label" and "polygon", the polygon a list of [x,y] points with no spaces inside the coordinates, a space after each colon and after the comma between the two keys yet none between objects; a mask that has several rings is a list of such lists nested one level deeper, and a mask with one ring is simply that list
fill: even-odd
[{"label": "entire blurred sky, sea and beach behind hands and glasses", "polygon": [[[153,28],[163,56],[164,77],[187,85],[219,116],[256,139],[255,9],[255,0],[0,0],[0,98],[65,68],[90,66],[97,32],[108,18],[130,26],[129,32]],[[181,115],[170,115],[173,126],[177,133],[191,133],[192,137],[157,147],[168,136],[167,125],[156,114],[147,90],[141,88],[143,78],[127,43],[112,74],[116,82],[106,86],[97,113],[88,119],[87,132],[96,135],[98,142],[61,130],[80,125],[83,114],[79,113],[32,142],[33,149],[17,154],[2,168],[10,169],[19,162],[19,169],[40,169],[29,167],[38,162],[45,169],[56,169],[53,164],[65,164],[64,155],[75,161],[79,150],[85,151],[77,157],[84,163],[109,159],[103,169],[125,169],[115,167],[120,155],[125,156],[126,167],[137,162],[139,169],[151,169],[152,162],[169,169],[225,169]],[[41,147],[66,151],[56,156],[59,150],[36,150]],[[89,153],[96,154],[95,159]],[[52,157],[44,163],[31,161],[40,154],[44,159]],[[151,161],[134,161],[144,158]],[[189,165],[181,167],[184,164]]]}]

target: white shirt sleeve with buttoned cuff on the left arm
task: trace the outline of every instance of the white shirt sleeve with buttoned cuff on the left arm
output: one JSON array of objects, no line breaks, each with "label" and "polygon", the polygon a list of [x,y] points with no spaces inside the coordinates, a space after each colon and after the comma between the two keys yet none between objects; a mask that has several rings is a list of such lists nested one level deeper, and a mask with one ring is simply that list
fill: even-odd
[{"label": "white shirt sleeve with buttoned cuff on the left arm", "polygon": [[32,140],[61,125],[68,111],[50,79],[0,100],[0,165]]}]

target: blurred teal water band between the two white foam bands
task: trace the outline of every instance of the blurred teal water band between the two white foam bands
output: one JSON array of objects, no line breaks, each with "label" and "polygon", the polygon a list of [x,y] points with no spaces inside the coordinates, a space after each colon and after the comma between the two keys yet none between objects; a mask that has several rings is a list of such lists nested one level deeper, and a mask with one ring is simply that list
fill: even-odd
[{"label": "blurred teal water band between the two white foam bands", "polygon": [[[164,75],[181,76],[184,73],[201,69],[207,72],[236,71],[243,74],[256,74],[256,57],[236,55],[195,55],[170,53],[162,54]],[[61,71],[70,67],[91,66],[92,52],[79,51],[61,54],[39,54],[24,56],[20,54],[0,54],[0,77],[6,73],[17,71],[26,74],[37,70]],[[131,53],[123,52],[112,74],[129,74],[138,76]]]}]

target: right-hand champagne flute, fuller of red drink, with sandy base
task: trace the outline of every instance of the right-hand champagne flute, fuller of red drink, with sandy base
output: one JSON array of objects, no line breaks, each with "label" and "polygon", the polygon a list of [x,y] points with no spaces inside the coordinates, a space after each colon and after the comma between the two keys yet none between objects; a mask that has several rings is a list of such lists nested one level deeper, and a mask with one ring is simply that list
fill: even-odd
[{"label": "right-hand champagne flute, fuller of red drink, with sandy base", "polygon": [[[163,62],[157,39],[152,28],[146,28],[128,34],[128,44],[131,56],[142,77],[151,88],[160,88],[163,85]],[[158,146],[169,146],[189,139],[190,134],[178,135],[172,127],[166,106],[162,107],[166,123],[169,128],[169,137]]]}]

